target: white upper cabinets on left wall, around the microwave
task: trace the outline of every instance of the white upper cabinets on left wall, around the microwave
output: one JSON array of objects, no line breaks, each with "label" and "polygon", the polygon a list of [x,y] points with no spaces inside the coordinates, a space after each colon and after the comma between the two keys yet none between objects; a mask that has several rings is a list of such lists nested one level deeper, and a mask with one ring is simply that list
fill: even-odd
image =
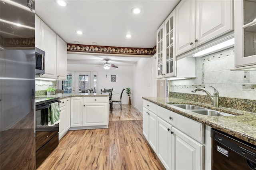
[{"label": "white upper cabinets on left wall, around the microwave", "polygon": [[44,78],[66,80],[67,44],[38,16],[35,22],[36,47],[45,51]]}]

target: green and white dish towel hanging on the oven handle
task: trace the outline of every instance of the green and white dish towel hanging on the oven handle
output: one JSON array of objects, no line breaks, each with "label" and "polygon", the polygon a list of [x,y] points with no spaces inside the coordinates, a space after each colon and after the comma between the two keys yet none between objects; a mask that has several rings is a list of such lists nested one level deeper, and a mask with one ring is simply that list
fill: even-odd
[{"label": "green and white dish towel hanging on the oven handle", "polygon": [[51,103],[50,105],[51,107],[50,107],[50,115],[48,115],[48,126],[54,126],[55,124],[60,123],[59,103],[55,102],[55,103]]}]

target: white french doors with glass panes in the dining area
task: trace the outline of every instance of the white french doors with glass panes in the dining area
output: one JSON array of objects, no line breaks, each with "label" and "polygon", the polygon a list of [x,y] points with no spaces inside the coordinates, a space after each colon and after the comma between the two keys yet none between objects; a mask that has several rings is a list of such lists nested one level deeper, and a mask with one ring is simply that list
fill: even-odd
[{"label": "white french doors with glass panes in the dining area", "polygon": [[65,93],[88,93],[88,89],[97,91],[97,73],[90,71],[68,71],[67,80],[59,81]]}]

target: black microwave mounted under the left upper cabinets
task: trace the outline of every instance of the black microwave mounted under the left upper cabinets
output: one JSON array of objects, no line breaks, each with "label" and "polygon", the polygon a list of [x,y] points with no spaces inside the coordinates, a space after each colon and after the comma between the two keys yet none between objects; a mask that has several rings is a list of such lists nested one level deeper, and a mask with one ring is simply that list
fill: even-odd
[{"label": "black microwave mounted under the left upper cabinets", "polygon": [[44,74],[45,52],[36,47],[36,74]]}]

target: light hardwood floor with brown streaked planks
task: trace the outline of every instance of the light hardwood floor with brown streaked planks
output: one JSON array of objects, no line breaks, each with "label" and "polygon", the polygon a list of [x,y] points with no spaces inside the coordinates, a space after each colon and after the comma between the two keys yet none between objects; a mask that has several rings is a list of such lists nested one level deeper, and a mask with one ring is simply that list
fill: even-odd
[{"label": "light hardwood floor with brown streaked planks", "polygon": [[114,105],[109,127],[70,130],[37,170],[164,170],[142,134],[142,114]]}]

